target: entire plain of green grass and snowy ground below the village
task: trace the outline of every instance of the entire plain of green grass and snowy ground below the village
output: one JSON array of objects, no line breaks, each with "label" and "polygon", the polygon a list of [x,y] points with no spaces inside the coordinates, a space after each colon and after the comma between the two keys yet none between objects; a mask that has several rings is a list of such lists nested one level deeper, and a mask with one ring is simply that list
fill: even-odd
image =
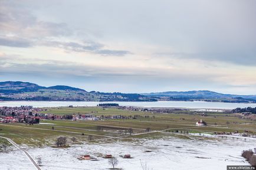
[{"label": "entire plain of green grass and snowy ground below the village", "polygon": [[[241,119],[235,114],[207,113],[193,110],[171,113],[150,113],[101,107],[46,108],[42,114],[94,116],[124,115],[127,119],[100,121],[71,121],[67,119],[40,120],[40,124],[0,124],[0,144],[12,139],[20,148],[8,144],[6,152],[0,149],[2,169],[90,169],[106,170],[111,166],[104,155],[118,159],[117,168],[148,169],[225,169],[227,165],[249,165],[241,151],[254,147],[255,138],[214,135],[214,132],[256,134],[256,122]],[[207,126],[196,126],[200,119]],[[132,130],[131,130],[132,129]],[[67,144],[57,148],[59,136],[67,137]],[[71,139],[75,137],[76,141]],[[25,151],[24,151],[25,150]],[[29,153],[32,161],[25,156]],[[132,159],[124,159],[130,154]],[[17,155],[19,158],[17,159]],[[81,155],[90,155],[96,161],[80,161]],[[38,160],[41,160],[38,162]],[[183,162],[186,161],[186,164]],[[200,166],[204,161],[204,166]],[[14,164],[15,163],[15,164]],[[37,168],[37,169],[38,169]],[[0,168],[1,169],[1,168]]]}]

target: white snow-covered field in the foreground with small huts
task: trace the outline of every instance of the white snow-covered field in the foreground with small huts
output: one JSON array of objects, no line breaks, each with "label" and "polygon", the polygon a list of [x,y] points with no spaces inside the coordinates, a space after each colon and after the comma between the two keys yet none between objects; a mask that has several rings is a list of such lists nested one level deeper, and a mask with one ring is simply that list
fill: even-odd
[{"label": "white snow-covered field in the foreground with small huts", "polygon": [[[117,168],[142,169],[140,161],[149,169],[227,169],[227,165],[249,165],[241,151],[256,146],[255,139],[211,138],[188,140],[175,137],[141,139],[134,142],[114,142],[75,145],[70,148],[33,148],[29,154],[37,160],[41,157],[42,169],[109,169],[108,160],[101,154],[111,154],[119,160]],[[152,151],[152,152],[145,152]],[[99,161],[79,161],[80,155],[91,155]],[[130,154],[132,159],[119,155]],[[0,154],[0,169],[35,169],[27,157],[19,151]]]}]

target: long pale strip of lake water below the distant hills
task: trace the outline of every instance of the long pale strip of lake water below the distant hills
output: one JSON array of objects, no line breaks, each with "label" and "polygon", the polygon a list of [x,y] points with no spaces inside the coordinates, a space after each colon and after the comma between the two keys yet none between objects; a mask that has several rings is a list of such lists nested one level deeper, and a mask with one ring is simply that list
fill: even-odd
[{"label": "long pale strip of lake water below the distant hills", "polygon": [[256,104],[234,104],[221,102],[204,101],[159,101],[159,102],[73,102],[73,101],[5,101],[0,102],[0,106],[21,106],[29,105],[34,107],[58,107],[58,106],[97,106],[102,103],[117,103],[121,106],[141,106],[141,107],[160,107],[160,108],[209,108],[209,109],[234,109],[245,107],[256,107]]}]

